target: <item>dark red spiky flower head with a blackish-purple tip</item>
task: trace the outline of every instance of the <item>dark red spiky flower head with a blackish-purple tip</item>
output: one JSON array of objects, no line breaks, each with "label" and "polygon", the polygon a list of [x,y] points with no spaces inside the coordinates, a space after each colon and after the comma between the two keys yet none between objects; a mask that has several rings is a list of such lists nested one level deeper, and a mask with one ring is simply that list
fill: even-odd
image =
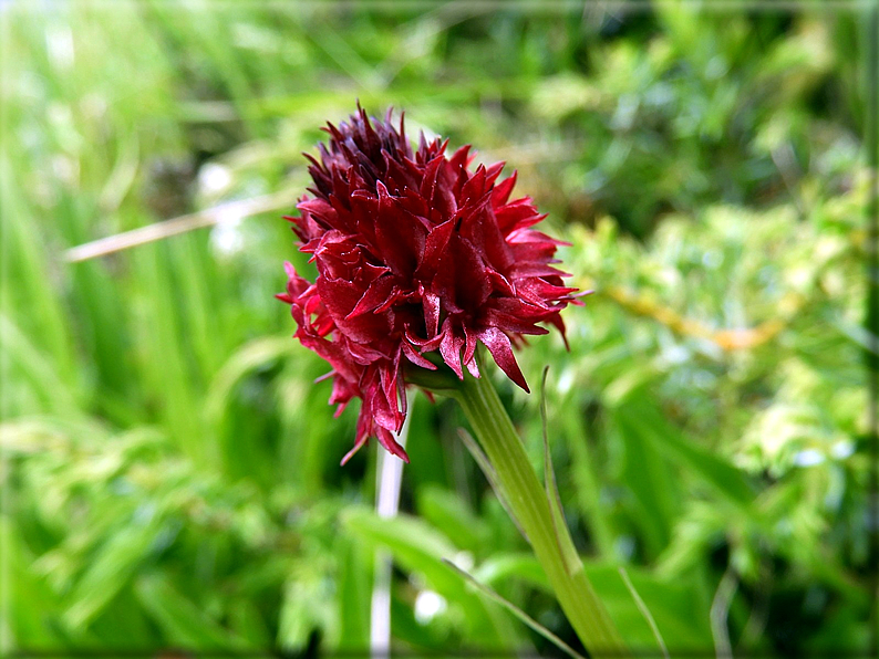
[{"label": "dark red spiky flower head with a blackish-purple tip", "polygon": [[417,150],[400,127],[362,108],[338,128],[329,148],[307,156],[314,186],[287,218],[311,254],[311,283],[286,264],[296,336],[332,366],[337,415],[352,398],[363,405],[354,448],[370,437],[409,461],[394,440],[406,415],[405,363],[435,369],[437,352],[464,377],[479,377],[476,346],[526,391],[513,355],[525,334],[563,336],[560,311],[576,289],[551,265],[559,241],[531,227],[546,216],[527,197],[509,200],[516,174],[498,182],[504,163],[470,171],[469,146],[446,155],[446,142]]}]

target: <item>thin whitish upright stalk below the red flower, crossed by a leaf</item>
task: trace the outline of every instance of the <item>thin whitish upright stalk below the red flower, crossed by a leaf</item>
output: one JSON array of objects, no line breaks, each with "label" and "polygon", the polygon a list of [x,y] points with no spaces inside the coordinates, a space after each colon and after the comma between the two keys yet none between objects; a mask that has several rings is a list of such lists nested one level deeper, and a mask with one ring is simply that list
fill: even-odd
[{"label": "thin whitish upright stalk below the red flower, crossed by a leaf", "polygon": [[[406,393],[409,414],[400,429],[396,441],[404,449],[412,419],[412,391]],[[375,512],[380,517],[396,516],[400,509],[400,484],[403,480],[403,460],[379,449],[379,466],[375,482]],[[386,659],[391,653],[391,572],[393,561],[384,550],[375,552],[375,578],[372,587],[370,615],[370,655],[372,659]]]}]

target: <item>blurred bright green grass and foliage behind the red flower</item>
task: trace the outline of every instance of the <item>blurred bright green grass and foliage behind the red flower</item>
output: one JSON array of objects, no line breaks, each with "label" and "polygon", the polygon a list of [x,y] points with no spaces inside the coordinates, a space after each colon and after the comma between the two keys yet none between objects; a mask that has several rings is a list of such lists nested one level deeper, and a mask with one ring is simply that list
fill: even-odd
[{"label": "blurred bright green grass and foliage behind the red flower", "polygon": [[[400,519],[374,442],[339,467],[356,410],[272,295],[300,153],[356,98],[508,161],[572,243],[571,349],[520,360],[632,645],[618,565],[671,649],[866,648],[852,7],[0,4],[4,649],[362,650],[381,547],[399,650],[550,651],[443,557],[577,645],[453,405],[416,397]],[[538,395],[498,386],[541,468]]]}]

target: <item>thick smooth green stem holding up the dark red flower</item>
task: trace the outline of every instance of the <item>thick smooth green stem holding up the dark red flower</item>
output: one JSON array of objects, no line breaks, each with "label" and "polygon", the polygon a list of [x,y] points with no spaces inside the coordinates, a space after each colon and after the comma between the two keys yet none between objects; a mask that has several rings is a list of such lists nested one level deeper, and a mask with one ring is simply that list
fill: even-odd
[{"label": "thick smooth green stem holding up the dark red flower", "polygon": [[[540,484],[492,381],[465,373],[463,383],[451,394],[464,408],[474,432],[509,502],[513,513],[528,536],[537,559],[544,567],[562,610],[583,646],[596,657],[628,656],[620,632],[579,563],[579,568],[566,565],[563,550],[572,551],[567,529],[552,522],[547,491]],[[566,546],[567,545],[567,546]]]}]

